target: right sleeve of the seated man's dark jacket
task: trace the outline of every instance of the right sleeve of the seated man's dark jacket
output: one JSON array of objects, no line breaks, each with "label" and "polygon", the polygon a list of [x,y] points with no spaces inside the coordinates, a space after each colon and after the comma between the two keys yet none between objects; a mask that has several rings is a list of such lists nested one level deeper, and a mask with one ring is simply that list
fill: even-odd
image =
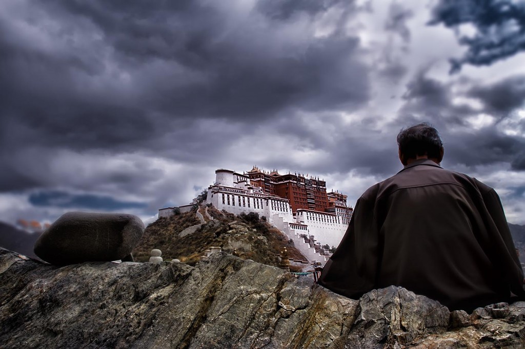
[{"label": "right sleeve of the seated man's dark jacket", "polygon": [[[509,225],[503,211],[503,206],[494,189],[482,193],[483,201],[495,225],[492,240],[492,263],[501,270],[514,295],[525,298],[523,290],[523,269],[521,268],[516,248],[510,234]],[[489,223],[492,223],[489,222]],[[489,226],[492,224],[488,224]]]}]

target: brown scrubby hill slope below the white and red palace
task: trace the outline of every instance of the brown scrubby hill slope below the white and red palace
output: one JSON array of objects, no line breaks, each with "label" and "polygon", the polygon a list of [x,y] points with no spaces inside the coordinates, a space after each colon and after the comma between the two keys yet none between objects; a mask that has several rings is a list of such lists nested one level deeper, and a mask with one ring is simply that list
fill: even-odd
[{"label": "brown scrubby hill slope below the white and red palace", "polygon": [[133,251],[137,261],[147,261],[153,248],[162,250],[164,260],[177,258],[183,263],[194,265],[211,246],[220,246],[227,253],[258,263],[278,266],[282,249],[286,247],[293,259],[306,260],[293,242],[260,218],[256,213],[240,214],[220,212],[207,208],[213,220],[199,208],[205,223],[196,217],[196,211],[180,213],[161,218],[146,227],[139,245]]}]

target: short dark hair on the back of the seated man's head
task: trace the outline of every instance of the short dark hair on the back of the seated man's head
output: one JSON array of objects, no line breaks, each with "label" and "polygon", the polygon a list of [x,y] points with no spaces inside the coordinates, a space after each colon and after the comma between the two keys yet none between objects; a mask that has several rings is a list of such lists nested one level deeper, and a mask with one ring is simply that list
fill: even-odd
[{"label": "short dark hair on the back of the seated man's head", "polygon": [[397,135],[397,145],[405,159],[415,159],[417,155],[439,158],[443,142],[437,129],[429,123],[421,123],[402,129]]}]

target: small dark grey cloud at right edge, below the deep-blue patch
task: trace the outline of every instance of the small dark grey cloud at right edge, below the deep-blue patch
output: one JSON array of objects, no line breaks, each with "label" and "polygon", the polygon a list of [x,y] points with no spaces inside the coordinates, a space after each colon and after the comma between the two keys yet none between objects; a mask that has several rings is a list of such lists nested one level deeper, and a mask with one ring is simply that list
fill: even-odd
[{"label": "small dark grey cloud at right edge, below the deep-blue patch", "polygon": [[469,96],[478,98],[489,112],[507,116],[525,104],[525,77],[511,77],[492,85],[474,86]]}]

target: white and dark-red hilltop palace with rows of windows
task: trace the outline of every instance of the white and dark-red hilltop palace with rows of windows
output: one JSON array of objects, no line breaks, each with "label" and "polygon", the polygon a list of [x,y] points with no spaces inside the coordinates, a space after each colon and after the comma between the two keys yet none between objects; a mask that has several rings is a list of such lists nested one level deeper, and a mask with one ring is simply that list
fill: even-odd
[{"label": "white and dark-red hilltop palace with rows of windows", "polygon": [[[337,247],[352,217],[346,195],[327,193],[326,182],[319,178],[266,172],[255,166],[243,174],[226,169],[215,174],[206,203],[234,214],[256,212],[266,216],[309,260],[319,260],[323,265],[329,256],[316,253],[301,235],[313,235],[316,243]],[[180,206],[180,210],[190,211],[192,206]],[[159,217],[172,215],[173,209],[160,209]]]}]

